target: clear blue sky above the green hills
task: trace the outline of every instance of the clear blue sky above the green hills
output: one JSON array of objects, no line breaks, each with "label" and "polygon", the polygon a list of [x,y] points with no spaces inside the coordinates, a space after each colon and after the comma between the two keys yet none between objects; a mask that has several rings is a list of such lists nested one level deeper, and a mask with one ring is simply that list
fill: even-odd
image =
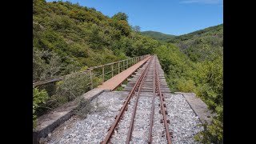
[{"label": "clear blue sky above the green hills", "polygon": [[[53,0],[46,0],[52,2]],[[58,1],[58,0],[57,0]],[[63,0],[65,1],[65,0]],[[141,31],[164,34],[188,34],[223,23],[222,0],[68,0],[81,6],[94,7],[112,17],[126,13],[131,26]]]}]

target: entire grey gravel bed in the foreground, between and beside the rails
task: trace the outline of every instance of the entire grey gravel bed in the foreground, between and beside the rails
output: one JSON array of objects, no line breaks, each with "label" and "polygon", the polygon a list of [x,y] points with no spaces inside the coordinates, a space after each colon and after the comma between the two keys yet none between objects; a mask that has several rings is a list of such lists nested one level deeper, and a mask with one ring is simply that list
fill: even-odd
[{"label": "entire grey gravel bed in the foreground, between and beside the rails", "polygon": [[[74,116],[59,126],[47,138],[42,138],[42,143],[100,143],[106,137],[107,130],[114,122],[114,117],[119,113],[127,92],[104,92],[95,98],[92,114],[85,119]],[[134,131],[130,143],[147,143],[152,93],[139,98],[137,114],[134,121]],[[173,133],[172,143],[197,143],[194,135],[203,130],[201,122],[194,114],[182,94],[164,94],[167,118],[170,119],[169,130]],[[125,143],[129,130],[130,118],[134,107],[135,98],[131,98],[128,110],[119,122],[118,131],[115,130],[112,143]],[[163,123],[160,122],[159,97],[154,101],[154,126],[152,130],[152,143],[167,143]]]}]

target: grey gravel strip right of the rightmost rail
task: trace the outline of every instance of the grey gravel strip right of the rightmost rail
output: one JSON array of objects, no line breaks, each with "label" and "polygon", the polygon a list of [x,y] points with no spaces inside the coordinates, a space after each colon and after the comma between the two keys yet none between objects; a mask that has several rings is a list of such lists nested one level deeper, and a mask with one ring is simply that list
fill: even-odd
[{"label": "grey gravel strip right of the rightmost rail", "polygon": [[172,142],[197,143],[194,142],[194,135],[203,130],[203,127],[186,99],[182,94],[170,94],[165,100],[167,118],[170,119],[169,130],[173,133]]}]

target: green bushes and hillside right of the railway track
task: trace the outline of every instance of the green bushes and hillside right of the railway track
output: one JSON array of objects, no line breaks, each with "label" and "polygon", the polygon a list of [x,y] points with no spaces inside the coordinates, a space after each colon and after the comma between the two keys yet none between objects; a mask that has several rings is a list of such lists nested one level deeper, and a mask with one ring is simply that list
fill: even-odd
[{"label": "green bushes and hillside right of the railway track", "polygon": [[222,143],[223,25],[175,37],[155,50],[171,91],[194,92],[218,114],[196,139]]}]

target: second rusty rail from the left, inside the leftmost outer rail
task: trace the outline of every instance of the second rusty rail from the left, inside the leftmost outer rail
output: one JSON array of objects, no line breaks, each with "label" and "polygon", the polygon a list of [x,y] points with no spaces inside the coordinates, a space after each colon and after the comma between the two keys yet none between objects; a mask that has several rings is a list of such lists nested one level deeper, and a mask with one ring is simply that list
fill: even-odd
[{"label": "second rusty rail from the left, inside the leftmost outer rail", "polygon": [[[152,59],[154,59],[154,57]],[[138,92],[136,94],[136,100],[135,100],[135,104],[134,104],[133,114],[132,114],[131,119],[130,119],[130,126],[129,126],[129,130],[128,130],[128,135],[127,135],[127,138],[126,138],[126,144],[130,143],[130,138],[131,138],[131,135],[132,135],[132,132],[133,132],[133,129],[134,129],[134,118],[135,118],[135,114],[136,114],[136,111],[137,111],[139,94],[141,93],[142,86],[143,86],[143,84],[145,82],[146,74],[149,71],[150,63],[152,61],[153,60],[151,60],[149,62],[149,64],[146,66],[146,68],[145,68],[146,72],[143,74],[143,77],[142,77],[142,79],[141,79],[141,81],[140,81],[140,83],[138,85]]]}]

